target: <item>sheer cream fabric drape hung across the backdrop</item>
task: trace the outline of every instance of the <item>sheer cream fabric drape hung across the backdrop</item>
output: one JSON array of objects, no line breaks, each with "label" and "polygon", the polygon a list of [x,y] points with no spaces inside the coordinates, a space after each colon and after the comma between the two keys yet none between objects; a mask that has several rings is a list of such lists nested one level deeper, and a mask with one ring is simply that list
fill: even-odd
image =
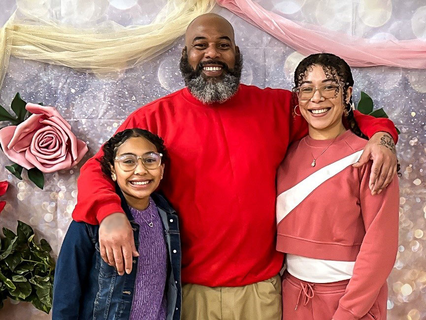
[{"label": "sheer cream fabric drape hung across the backdrop", "polygon": [[64,27],[19,9],[0,30],[0,87],[9,56],[84,72],[132,68],[164,52],[194,18],[210,12],[215,2],[169,0],[151,24],[126,28],[113,27],[112,22],[97,29]]}]

